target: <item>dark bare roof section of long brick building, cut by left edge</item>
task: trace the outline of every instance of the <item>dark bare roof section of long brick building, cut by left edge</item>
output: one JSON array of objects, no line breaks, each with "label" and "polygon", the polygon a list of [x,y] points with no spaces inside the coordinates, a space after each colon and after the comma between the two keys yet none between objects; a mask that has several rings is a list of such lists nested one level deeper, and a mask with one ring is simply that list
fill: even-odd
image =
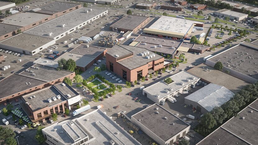
[{"label": "dark bare roof section of long brick building, cut by left edge", "polygon": [[[30,84],[25,84],[29,82]],[[18,74],[12,74],[0,81],[0,98],[7,97],[30,88],[34,88],[44,83],[46,82]]]}]

